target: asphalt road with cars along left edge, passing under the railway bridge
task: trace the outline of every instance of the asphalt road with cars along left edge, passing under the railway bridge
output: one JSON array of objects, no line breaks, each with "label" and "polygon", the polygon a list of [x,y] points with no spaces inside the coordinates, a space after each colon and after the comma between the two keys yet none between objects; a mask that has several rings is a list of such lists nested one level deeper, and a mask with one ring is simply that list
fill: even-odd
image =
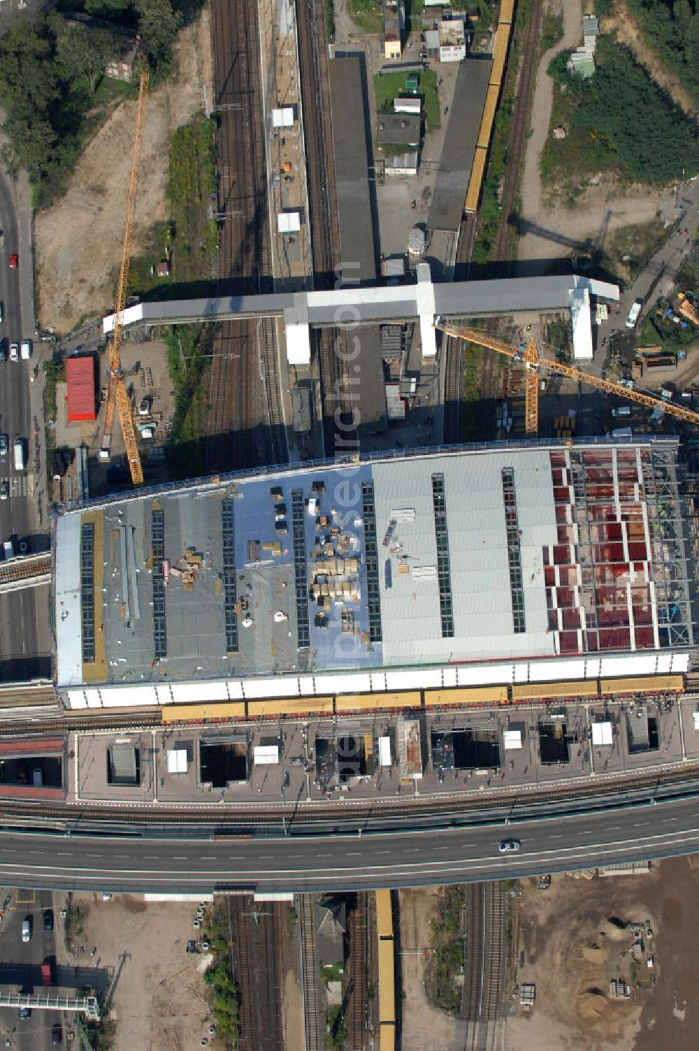
[{"label": "asphalt road with cars along left edge, passing under the railway bridge", "polygon": [[[20,220],[22,229],[20,229]],[[3,320],[0,338],[11,343],[34,338],[32,315],[32,259],[24,227],[26,217],[17,206],[14,185],[0,170],[0,302]],[[9,269],[9,256],[19,255],[19,268]],[[28,301],[28,302],[27,302]],[[24,320],[22,320],[24,318]],[[0,457],[0,482],[6,480],[9,496],[0,500],[0,543],[9,537],[28,538],[32,550],[46,545],[37,530],[37,470],[35,420],[29,401],[29,375],[34,362],[0,363],[0,433],[7,435],[8,452]],[[42,427],[42,421],[37,420]],[[26,442],[27,470],[15,470],[13,442]],[[0,680],[14,682],[50,675],[48,589],[39,588],[0,596]]]}]

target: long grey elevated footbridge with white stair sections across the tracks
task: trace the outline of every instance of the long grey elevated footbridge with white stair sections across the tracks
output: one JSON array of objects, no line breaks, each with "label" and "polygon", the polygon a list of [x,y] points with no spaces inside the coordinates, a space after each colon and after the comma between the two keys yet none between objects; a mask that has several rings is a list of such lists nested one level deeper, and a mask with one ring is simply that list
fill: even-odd
[{"label": "long grey elevated footbridge with white stair sections across the tracks", "polygon": [[[290,365],[310,362],[310,329],[419,322],[423,357],[436,355],[434,321],[448,317],[493,317],[522,312],[574,315],[573,348],[577,358],[591,357],[591,296],[618,303],[619,288],[579,274],[515,277],[434,284],[427,264],[416,269],[412,285],[335,288],[321,292],[275,292],[269,295],[224,295],[200,300],[137,303],[124,310],[123,324],[186,325],[234,318],[281,317]],[[103,320],[106,334],[115,315]]]}]

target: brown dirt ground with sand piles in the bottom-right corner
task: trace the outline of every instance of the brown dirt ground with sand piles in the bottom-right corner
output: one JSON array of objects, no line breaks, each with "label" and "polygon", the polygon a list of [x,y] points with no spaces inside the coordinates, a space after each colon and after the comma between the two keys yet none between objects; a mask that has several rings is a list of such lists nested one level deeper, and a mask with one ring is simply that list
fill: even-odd
[{"label": "brown dirt ground with sand piles in the bottom-right corner", "polygon": [[[536,1003],[531,1014],[508,1019],[508,1051],[697,1047],[699,976],[691,962],[699,859],[667,859],[647,875],[554,875],[546,891],[534,880],[520,886],[516,978],[535,983]],[[630,953],[632,928],[610,918],[632,927],[650,922],[653,936],[644,939],[640,961]],[[612,977],[632,981],[630,1001],[610,1000]]]}]

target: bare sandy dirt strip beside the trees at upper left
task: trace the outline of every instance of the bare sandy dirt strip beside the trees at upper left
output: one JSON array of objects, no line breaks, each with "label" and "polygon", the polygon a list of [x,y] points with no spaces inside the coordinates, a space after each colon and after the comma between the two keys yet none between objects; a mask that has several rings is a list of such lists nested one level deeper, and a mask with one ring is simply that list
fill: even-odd
[{"label": "bare sandy dirt strip beside the trees at upper left", "polygon": [[[141,178],[131,251],[139,254],[155,222],[165,220],[167,142],[204,108],[211,83],[209,11],[180,35],[177,76],[146,103]],[[114,304],[124,205],[131,165],[136,102],[123,103],[85,149],[65,195],[35,217],[37,317],[41,328],[71,331]]]}]

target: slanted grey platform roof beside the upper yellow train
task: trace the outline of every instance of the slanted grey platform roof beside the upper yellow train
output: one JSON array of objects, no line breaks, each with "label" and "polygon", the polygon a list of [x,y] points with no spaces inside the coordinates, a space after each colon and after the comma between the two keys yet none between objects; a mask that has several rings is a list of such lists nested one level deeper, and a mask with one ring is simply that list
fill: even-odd
[{"label": "slanted grey platform roof beside the upper yellow train", "polygon": [[457,230],[461,222],[492,65],[490,56],[460,64],[427,223],[431,230]]}]

